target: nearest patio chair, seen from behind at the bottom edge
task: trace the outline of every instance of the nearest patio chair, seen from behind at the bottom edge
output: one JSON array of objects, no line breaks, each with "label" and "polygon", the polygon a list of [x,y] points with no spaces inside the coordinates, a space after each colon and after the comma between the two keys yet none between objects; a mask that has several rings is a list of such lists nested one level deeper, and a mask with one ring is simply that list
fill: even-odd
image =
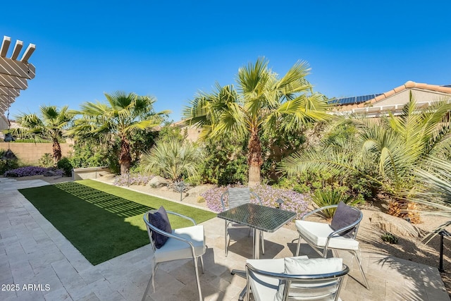
[{"label": "nearest patio chair, seen from behind at the bottom edge", "polygon": [[340,300],[348,272],[341,258],[248,259],[246,300]]}]

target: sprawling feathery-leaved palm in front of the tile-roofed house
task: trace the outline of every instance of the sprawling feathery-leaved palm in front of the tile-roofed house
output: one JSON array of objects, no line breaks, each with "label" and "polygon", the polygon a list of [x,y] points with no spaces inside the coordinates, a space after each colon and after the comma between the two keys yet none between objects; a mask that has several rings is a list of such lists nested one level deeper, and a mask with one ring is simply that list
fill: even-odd
[{"label": "sprawling feathery-leaved palm in front of the tile-roofed house", "polygon": [[343,176],[357,173],[374,185],[381,186],[392,195],[389,213],[405,216],[407,204],[404,191],[417,183],[414,168],[423,164],[426,156],[437,154],[450,142],[451,104],[438,101],[428,109],[419,109],[414,97],[404,106],[401,116],[382,117],[379,121],[368,118],[347,118],[343,123],[354,125],[357,137],[346,137],[343,149],[334,143],[321,149],[297,153],[281,165],[283,171],[294,176],[306,171],[323,171]]}]

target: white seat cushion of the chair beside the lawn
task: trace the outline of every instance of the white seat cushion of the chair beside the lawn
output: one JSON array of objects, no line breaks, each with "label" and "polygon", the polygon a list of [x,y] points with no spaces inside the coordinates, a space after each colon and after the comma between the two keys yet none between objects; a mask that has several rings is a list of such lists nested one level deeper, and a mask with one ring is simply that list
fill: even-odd
[{"label": "white seat cushion of the chair beside the lawn", "polygon": [[[175,229],[173,235],[191,240],[194,245],[196,256],[205,253],[204,226],[197,225],[187,228]],[[155,262],[168,262],[175,259],[183,259],[192,257],[190,245],[186,242],[169,238],[168,241],[160,249],[155,250]]]}]

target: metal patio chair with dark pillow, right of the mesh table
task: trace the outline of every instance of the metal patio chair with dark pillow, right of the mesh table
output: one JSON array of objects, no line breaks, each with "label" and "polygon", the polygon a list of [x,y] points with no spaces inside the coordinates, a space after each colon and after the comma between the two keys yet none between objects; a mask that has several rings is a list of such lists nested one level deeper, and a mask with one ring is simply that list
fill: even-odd
[{"label": "metal patio chair with dark pillow, right of the mesh table", "polygon": [[[308,216],[320,214],[321,211],[332,208],[336,208],[336,211],[330,225],[328,223],[305,220]],[[328,256],[328,250],[332,250],[335,256],[336,250],[347,250],[352,254],[352,258],[355,257],[357,259],[365,287],[369,289],[369,284],[362,268],[362,260],[357,254],[357,251],[360,253],[359,242],[355,239],[362,218],[362,211],[343,202],[340,202],[338,205],[321,207],[305,214],[301,220],[295,221],[297,232],[299,233],[296,255],[299,255],[301,238],[323,258]],[[320,249],[323,249],[323,252]]]}]

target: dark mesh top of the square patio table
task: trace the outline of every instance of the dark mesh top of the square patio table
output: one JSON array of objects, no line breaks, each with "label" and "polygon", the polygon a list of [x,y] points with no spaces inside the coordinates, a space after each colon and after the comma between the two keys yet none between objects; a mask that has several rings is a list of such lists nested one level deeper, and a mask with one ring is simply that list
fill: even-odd
[{"label": "dark mesh top of the square patio table", "polygon": [[295,212],[261,206],[257,204],[242,204],[218,214],[219,219],[226,219],[235,223],[274,232],[296,216]]}]

